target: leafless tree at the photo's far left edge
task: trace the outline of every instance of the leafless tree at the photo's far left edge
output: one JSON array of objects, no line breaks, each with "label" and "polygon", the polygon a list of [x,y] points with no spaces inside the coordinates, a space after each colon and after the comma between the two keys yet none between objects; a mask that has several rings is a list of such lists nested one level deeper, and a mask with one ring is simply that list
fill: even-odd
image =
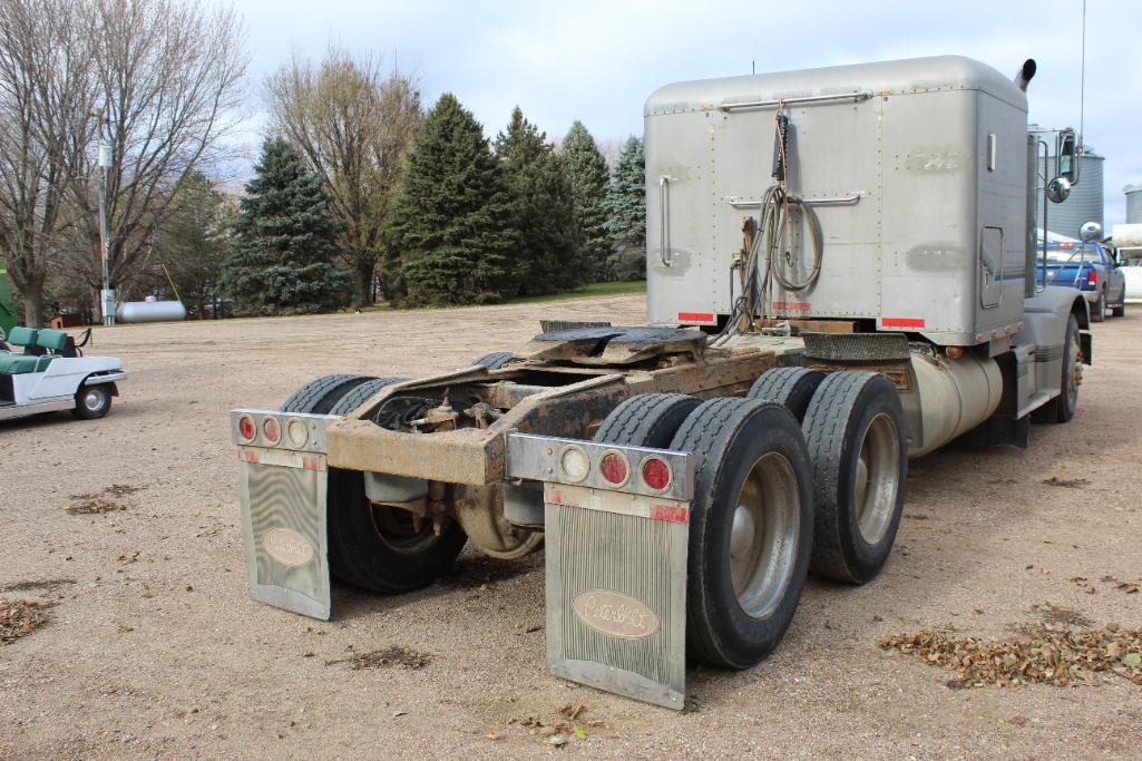
[{"label": "leafless tree at the photo's far left edge", "polygon": [[0,0],[0,245],[24,302],[43,319],[43,286],[75,222],[95,99],[77,0]]}]

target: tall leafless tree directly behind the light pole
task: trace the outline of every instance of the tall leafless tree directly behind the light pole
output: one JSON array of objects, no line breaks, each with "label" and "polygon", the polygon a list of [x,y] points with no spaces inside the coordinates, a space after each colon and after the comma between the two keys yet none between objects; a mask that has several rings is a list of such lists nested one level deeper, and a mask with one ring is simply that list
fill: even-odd
[{"label": "tall leafless tree directly behind the light pole", "polygon": [[[242,112],[248,65],[243,24],[232,8],[184,0],[83,0],[97,87],[97,130],[114,157],[107,178],[108,265],[115,288],[143,270],[179,181],[235,152],[226,137]],[[85,169],[94,175],[94,152]],[[89,255],[102,278],[94,183],[75,183]]]}]

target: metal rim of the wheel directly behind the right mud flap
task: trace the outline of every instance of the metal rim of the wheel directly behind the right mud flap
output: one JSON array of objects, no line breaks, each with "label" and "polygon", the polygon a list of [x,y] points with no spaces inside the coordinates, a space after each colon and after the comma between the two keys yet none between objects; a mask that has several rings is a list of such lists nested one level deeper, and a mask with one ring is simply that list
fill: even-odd
[{"label": "metal rim of the wheel directly behind the right mud flap", "polygon": [[783,455],[759,458],[738,495],[730,529],[730,576],[741,609],[765,618],[785,596],[797,558],[801,494]]}]

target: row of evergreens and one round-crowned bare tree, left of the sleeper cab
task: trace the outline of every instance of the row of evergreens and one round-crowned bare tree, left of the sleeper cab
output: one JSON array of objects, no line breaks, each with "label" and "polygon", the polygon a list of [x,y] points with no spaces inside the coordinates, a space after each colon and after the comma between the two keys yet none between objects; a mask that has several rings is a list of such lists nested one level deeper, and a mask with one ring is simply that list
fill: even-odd
[{"label": "row of evergreens and one round-crowned bare tree, left of the sleeper cab", "polygon": [[489,141],[456,96],[424,113],[407,77],[336,50],[268,90],[274,130],[222,267],[236,314],[361,307],[375,289],[401,306],[490,304],[644,274],[638,138],[612,179],[581,122],[556,149],[516,107]]}]

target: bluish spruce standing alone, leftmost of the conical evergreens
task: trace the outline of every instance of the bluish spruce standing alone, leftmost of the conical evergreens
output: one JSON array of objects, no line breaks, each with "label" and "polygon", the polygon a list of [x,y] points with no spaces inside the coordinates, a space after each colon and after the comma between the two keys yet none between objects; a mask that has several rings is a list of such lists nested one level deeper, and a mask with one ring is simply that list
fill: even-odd
[{"label": "bluish spruce standing alone, leftmost of the conical evergreens", "polygon": [[321,178],[281,138],[267,138],[246,185],[222,287],[234,314],[313,314],[344,306],[353,290],[337,256],[338,224]]}]

